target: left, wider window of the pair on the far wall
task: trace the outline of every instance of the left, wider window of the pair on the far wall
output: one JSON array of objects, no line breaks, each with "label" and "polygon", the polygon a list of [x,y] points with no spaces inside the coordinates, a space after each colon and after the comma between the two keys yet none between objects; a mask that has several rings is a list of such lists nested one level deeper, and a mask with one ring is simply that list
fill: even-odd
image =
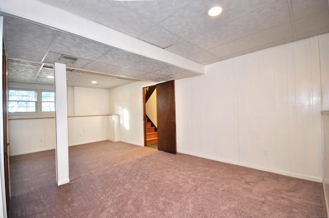
[{"label": "left, wider window of the pair on the far wall", "polygon": [[31,90],[9,90],[9,112],[35,112],[37,92]]}]

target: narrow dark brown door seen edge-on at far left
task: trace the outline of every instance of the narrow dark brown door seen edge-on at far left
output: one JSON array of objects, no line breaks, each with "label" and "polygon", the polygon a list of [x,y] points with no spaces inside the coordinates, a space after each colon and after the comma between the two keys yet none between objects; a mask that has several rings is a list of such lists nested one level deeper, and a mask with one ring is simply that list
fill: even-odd
[{"label": "narrow dark brown door seen edge-on at far left", "polygon": [[8,139],[7,139],[7,121],[8,121],[8,95],[7,95],[7,70],[6,70],[6,55],[5,50],[3,50],[3,67],[2,67],[2,87],[3,87],[3,118],[4,118],[4,166],[5,166],[5,188],[6,188],[6,203],[7,203],[7,213],[9,211],[9,163],[8,163]]}]

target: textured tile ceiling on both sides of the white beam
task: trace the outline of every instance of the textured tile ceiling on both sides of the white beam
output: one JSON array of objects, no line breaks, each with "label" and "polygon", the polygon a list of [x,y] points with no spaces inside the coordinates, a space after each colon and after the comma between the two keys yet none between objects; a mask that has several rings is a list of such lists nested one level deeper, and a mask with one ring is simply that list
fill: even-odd
[{"label": "textured tile ceiling on both sides of the white beam", "polygon": [[[327,0],[40,2],[202,65],[329,32]],[[212,6],[221,6],[223,13],[209,17],[207,11]],[[9,78],[16,82],[33,77],[31,83],[47,84],[49,81],[44,78],[47,70],[42,64],[51,66],[62,55],[78,58],[76,63],[67,64],[72,69],[68,71],[67,78],[71,80],[68,84],[77,86],[95,86],[88,83],[93,75],[106,77],[99,80],[103,84],[96,85],[102,88],[123,85],[124,81],[160,82],[199,75],[10,14],[5,14],[4,27]],[[24,66],[15,60],[31,64]],[[23,74],[25,78],[20,78]]]}]

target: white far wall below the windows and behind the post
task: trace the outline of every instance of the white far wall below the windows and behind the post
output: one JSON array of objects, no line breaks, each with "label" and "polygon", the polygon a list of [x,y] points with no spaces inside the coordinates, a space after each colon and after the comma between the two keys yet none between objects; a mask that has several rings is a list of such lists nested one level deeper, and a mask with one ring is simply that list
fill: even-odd
[{"label": "white far wall below the windows and behind the post", "polygon": [[[11,85],[28,86],[19,83]],[[68,87],[67,95],[68,116],[72,116],[68,117],[69,146],[107,140],[108,90]],[[32,116],[9,120],[9,142],[11,156],[54,149],[54,118]]]}]

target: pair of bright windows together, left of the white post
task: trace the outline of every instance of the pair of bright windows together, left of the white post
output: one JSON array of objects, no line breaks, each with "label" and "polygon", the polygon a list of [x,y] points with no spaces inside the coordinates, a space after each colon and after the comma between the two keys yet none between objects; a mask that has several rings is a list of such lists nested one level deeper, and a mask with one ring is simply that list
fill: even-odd
[{"label": "pair of bright windows together, left of the white post", "polygon": [[10,89],[8,94],[8,111],[10,113],[36,114],[55,111],[55,93],[53,91]]}]

